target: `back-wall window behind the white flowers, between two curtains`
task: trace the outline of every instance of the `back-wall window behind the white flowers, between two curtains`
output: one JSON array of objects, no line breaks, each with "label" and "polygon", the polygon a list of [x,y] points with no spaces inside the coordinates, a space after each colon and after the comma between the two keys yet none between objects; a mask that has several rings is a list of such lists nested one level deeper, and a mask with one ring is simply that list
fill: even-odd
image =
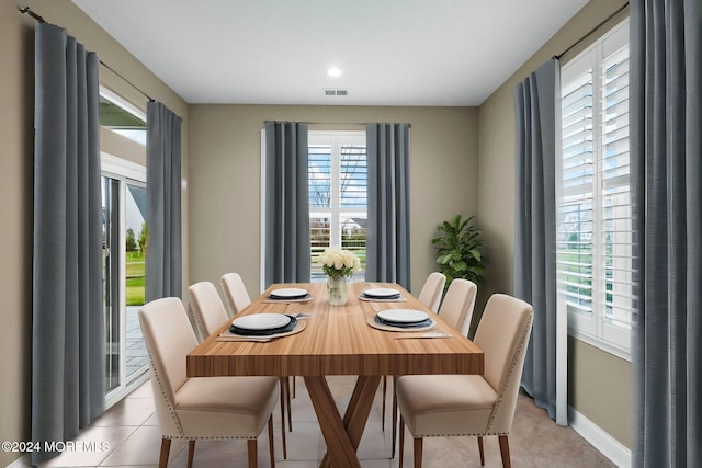
[{"label": "back-wall window behind the white flowers, between two curtains", "polygon": [[340,246],[361,259],[365,275],[367,161],[364,132],[309,132],[312,281],[325,278],[317,258]]}]

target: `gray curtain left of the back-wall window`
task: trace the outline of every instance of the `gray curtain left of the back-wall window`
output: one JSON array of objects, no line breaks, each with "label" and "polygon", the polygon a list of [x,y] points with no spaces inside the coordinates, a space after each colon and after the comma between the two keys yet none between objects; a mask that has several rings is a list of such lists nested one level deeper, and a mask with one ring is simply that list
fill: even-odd
[{"label": "gray curtain left of the back-wall window", "polygon": [[307,124],[265,123],[265,286],[310,278]]}]

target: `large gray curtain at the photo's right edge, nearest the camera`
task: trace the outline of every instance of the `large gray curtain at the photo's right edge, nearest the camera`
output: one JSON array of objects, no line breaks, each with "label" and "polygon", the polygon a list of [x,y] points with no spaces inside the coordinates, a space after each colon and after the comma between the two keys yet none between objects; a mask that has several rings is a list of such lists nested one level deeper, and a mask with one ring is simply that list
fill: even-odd
[{"label": "large gray curtain at the photo's right edge, nearest the camera", "polygon": [[702,459],[702,2],[632,1],[632,466]]}]

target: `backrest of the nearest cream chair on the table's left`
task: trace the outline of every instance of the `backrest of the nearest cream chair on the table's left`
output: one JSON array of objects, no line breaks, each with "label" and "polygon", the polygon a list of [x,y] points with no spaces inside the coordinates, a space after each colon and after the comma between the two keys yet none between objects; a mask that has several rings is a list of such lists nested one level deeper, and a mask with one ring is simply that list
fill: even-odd
[{"label": "backrest of the nearest cream chair on the table's left", "polygon": [[156,414],[165,436],[182,435],[176,415],[176,392],[188,380],[185,356],[197,345],[183,303],[166,297],[139,309],[139,324],[149,353]]}]

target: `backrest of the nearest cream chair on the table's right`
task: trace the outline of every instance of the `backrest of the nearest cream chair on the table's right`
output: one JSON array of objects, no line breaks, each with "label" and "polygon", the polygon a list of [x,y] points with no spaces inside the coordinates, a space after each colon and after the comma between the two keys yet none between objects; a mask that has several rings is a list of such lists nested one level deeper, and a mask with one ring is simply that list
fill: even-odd
[{"label": "backrest of the nearest cream chair on the table's right", "polygon": [[498,392],[489,433],[512,426],[534,310],[505,294],[490,296],[475,332],[474,343],[485,353],[485,379]]}]

